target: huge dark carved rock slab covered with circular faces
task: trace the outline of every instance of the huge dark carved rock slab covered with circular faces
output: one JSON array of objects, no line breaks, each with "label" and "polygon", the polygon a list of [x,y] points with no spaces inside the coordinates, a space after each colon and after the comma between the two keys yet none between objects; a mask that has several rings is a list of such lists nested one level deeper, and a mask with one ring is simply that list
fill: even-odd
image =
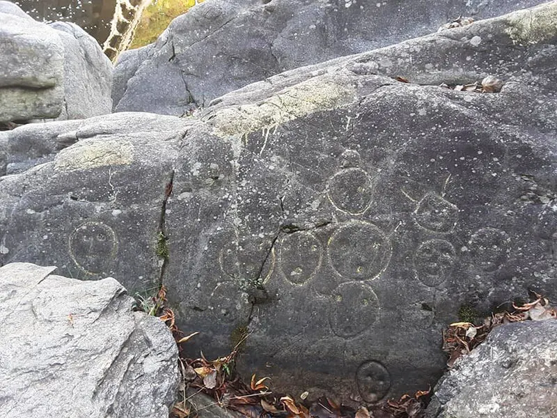
[{"label": "huge dark carved rock slab covered with circular faces", "polygon": [[[0,181],[0,262],[162,281],[191,355],[251,332],[240,370],[292,396],[425,389],[460,307],[557,300],[556,21],[552,1],[292,70],[199,118],[91,118]],[[488,75],[499,93],[439,86]]]}]

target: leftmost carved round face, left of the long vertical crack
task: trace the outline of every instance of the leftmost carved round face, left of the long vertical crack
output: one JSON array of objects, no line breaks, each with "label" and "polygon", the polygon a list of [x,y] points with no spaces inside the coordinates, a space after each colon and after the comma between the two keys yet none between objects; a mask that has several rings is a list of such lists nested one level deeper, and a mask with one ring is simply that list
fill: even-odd
[{"label": "leftmost carved round face, left of the long vertical crack", "polygon": [[70,256],[82,270],[97,274],[108,269],[118,252],[113,229],[102,222],[85,222],[70,235]]}]

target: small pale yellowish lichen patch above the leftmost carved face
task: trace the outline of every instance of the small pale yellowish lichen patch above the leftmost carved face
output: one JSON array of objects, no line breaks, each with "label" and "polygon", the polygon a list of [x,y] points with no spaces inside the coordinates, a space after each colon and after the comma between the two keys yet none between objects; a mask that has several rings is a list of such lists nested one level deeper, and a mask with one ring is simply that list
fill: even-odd
[{"label": "small pale yellowish lichen patch above the leftmost carved face", "polygon": [[134,160],[134,146],[128,141],[90,139],[61,150],[54,159],[60,171],[95,169],[97,167],[129,165]]}]

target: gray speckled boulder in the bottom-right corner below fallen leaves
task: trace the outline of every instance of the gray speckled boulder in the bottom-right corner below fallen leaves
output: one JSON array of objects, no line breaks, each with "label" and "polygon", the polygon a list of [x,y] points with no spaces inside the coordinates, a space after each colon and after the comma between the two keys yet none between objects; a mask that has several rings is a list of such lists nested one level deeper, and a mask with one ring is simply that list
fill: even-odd
[{"label": "gray speckled boulder in the bottom-right corner below fallen leaves", "polygon": [[496,328],[441,379],[430,418],[557,416],[557,320]]}]

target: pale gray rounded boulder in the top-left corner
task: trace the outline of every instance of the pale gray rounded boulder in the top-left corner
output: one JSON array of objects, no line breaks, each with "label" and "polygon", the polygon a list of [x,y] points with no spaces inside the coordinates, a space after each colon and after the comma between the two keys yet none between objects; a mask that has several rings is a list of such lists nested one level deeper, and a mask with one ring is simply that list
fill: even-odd
[{"label": "pale gray rounded boulder in the top-left corner", "polygon": [[74,24],[22,14],[0,5],[0,122],[110,113],[113,69],[97,42]]}]

